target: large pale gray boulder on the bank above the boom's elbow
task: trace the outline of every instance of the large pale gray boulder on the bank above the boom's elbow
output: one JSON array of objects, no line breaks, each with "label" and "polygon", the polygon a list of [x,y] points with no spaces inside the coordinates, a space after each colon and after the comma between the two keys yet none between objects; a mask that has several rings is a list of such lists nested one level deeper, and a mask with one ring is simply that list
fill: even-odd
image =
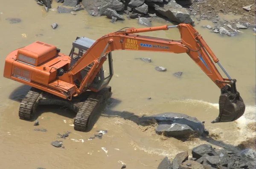
[{"label": "large pale gray boulder on the bank above the boom's elbow", "polygon": [[159,14],[174,22],[189,23],[191,25],[195,23],[186,8],[177,4],[175,0],[171,0],[168,4],[148,2],[148,6],[154,7]]}]

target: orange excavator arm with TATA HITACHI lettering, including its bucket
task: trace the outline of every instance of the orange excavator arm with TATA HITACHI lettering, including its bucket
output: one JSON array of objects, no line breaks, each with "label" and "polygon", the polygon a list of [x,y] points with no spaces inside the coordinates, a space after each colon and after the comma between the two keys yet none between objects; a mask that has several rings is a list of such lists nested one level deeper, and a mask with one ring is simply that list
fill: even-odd
[{"label": "orange excavator arm with TATA HITACHI lettering, including its bucket", "polygon": [[[169,28],[178,28],[181,40],[162,39],[136,34],[149,31],[168,30]],[[93,64],[87,73],[87,76],[82,79],[80,87],[77,88],[77,94],[81,93],[82,90],[89,88],[94,77],[105,62],[107,54],[116,50],[188,54],[212,82],[221,89],[219,116],[212,121],[212,123],[235,121],[243,115],[245,105],[239,92],[236,90],[236,79],[230,78],[201,35],[189,24],[179,24],[176,26],[163,25],[160,27],[140,29],[128,28],[106,34],[97,39],[79,61],[77,61],[66,73],[71,77],[69,78],[70,83],[73,83],[73,77],[78,76],[82,69]],[[218,69],[215,67],[214,62],[220,66],[228,79],[224,79],[221,76]]]}]

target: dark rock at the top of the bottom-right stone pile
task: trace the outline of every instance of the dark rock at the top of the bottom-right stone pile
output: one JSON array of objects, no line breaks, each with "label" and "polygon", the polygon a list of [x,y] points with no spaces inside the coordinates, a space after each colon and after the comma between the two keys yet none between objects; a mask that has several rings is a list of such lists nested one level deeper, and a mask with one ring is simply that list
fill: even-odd
[{"label": "dark rock at the top of the bottom-right stone pile", "polygon": [[212,146],[210,144],[201,144],[199,146],[196,146],[192,149],[192,156],[193,158],[201,158],[204,154],[207,155],[218,155],[214,149],[212,149]]}]

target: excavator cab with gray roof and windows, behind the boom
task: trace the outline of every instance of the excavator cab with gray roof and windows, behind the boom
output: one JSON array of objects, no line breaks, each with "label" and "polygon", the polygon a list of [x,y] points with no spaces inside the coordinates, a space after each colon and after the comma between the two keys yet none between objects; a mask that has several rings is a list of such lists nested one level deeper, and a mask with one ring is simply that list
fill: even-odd
[{"label": "excavator cab with gray roof and windows, behind the boom", "polygon": [[[70,67],[72,67],[84,55],[84,53],[93,45],[94,42],[95,40],[86,37],[76,37],[76,40],[73,42],[73,47],[69,54],[69,56],[71,57]],[[93,79],[93,82],[89,87],[90,90],[98,91],[108,85],[113,76],[112,62],[112,54],[110,52],[108,53],[107,60],[102,65],[102,68],[100,68],[99,72]],[[90,70],[91,66],[92,64],[88,65],[86,68],[81,70],[81,79],[84,79],[84,77]],[[103,68],[106,69],[104,70]],[[76,80],[75,83],[79,87],[79,81]]]}]

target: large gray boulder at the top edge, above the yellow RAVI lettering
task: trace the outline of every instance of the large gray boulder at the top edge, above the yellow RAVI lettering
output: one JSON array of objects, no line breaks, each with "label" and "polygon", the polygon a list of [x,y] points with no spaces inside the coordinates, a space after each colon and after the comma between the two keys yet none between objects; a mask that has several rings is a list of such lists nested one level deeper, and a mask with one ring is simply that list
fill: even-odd
[{"label": "large gray boulder at the top edge, above the yellow RAVI lettering", "polygon": [[124,11],[125,5],[119,0],[82,0],[84,8],[93,16],[105,15],[107,8]]}]

